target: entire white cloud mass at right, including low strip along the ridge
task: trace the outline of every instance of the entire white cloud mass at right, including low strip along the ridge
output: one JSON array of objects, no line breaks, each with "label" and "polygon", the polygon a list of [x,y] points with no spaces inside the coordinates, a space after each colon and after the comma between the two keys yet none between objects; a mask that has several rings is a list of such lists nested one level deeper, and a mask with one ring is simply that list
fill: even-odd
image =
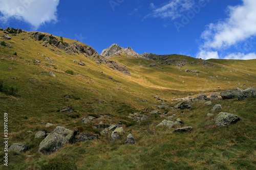
[{"label": "entire white cloud mass at right, including low strip along the ridge", "polygon": [[[226,19],[206,26],[205,31],[201,34],[203,44],[199,46],[198,58],[217,58],[218,51],[222,52],[221,56],[225,56],[225,59],[256,58],[255,53],[249,53],[249,50],[253,49],[254,42],[248,41],[256,36],[256,1],[242,1],[242,5],[228,6]],[[237,52],[225,55],[228,53],[228,48],[236,47],[241,43],[244,43],[244,50],[247,50],[246,52],[249,54]],[[248,47],[249,49],[247,49]]]}]

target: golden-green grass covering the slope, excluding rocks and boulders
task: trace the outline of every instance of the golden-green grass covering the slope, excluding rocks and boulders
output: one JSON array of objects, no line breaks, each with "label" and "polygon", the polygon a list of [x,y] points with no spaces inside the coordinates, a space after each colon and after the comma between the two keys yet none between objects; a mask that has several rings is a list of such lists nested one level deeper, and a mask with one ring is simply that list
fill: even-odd
[{"label": "golden-green grass covering the slope, excluding rocks and boulders", "polygon": [[[3,32],[0,32],[0,36],[2,35]],[[172,98],[184,97],[189,93],[208,94],[212,90],[218,90],[218,86],[221,90],[255,86],[256,60],[209,60],[215,64],[213,68],[202,64],[200,59],[172,56],[182,57],[188,63],[194,61],[194,64],[186,64],[185,67],[180,68],[161,64],[161,61],[156,62],[159,67],[148,67],[155,61],[126,55],[111,58],[129,68],[132,76],[125,76],[104,65],[97,65],[83,55],[69,55],[53,46],[43,47],[28,34],[22,33],[11,37],[12,39],[6,40],[6,43],[11,44],[13,48],[0,46],[0,58],[3,58],[0,60],[0,79],[4,80],[6,86],[18,88],[19,92],[17,96],[0,93],[0,111],[9,114],[9,144],[25,142],[30,150],[22,154],[11,153],[10,169],[40,167],[59,156],[76,162],[79,169],[256,168],[255,99],[242,102],[237,100],[213,102],[221,104],[223,111],[241,116],[242,121],[238,124],[224,128],[215,128],[212,118],[205,117],[212,106],[204,106],[200,103],[194,103],[193,109],[175,113],[175,117],[180,117],[185,126],[195,128],[189,134],[173,134],[169,133],[173,129],[165,130],[157,127],[158,135],[146,136],[133,126],[126,127],[125,132],[133,130],[137,139],[136,145],[123,145],[125,135],[122,139],[110,143],[101,136],[97,141],[68,144],[46,157],[37,153],[42,139],[34,139],[38,130],[52,130],[45,129],[45,125],[41,122],[51,122],[70,129],[83,126],[86,131],[97,133],[92,130],[92,125],[82,125],[80,118],[92,113],[110,114],[112,122],[105,120],[106,123],[118,123],[119,120],[131,122],[127,118],[129,113],[145,107],[155,108],[153,105],[159,104],[153,98],[154,95],[159,95],[167,100],[170,106],[174,106]],[[25,40],[21,40],[23,37]],[[66,38],[63,40],[73,42]],[[13,55],[14,52],[17,56]],[[53,63],[46,61],[41,54],[52,59]],[[42,63],[36,64],[34,59]],[[72,62],[73,60],[81,60],[87,66],[77,65]],[[10,67],[11,70],[8,69]],[[191,72],[185,72],[185,69],[199,70],[200,73],[196,76]],[[65,70],[73,70],[75,74],[83,76],[69,75]],[[57,77],[50,76],[49,71],[53,71]],[[110,77],[113,79],[109,79]],[[30,81],[31,78],[36,80]],[[63,98],[66,94],[73,98]],[[146,99],[148,102],[141,102],[136,100],[137,98]],[[97,99],[105,100],[106,104],[96,102]],[[57,112],[68,105],[72,105],[77,110],[80,118],[72,118],[68,114]],[[215,113],[217,114],[218,112]],[[155,116],[151,123],[157,124],[161,120],[160,116]],[[28,130],[34,133],[27,133]],[[3,137],[3,133],[0,134]],[[1,157],[3,154],[1,153]],[[17,161],[19,163],[16,163]]]}]

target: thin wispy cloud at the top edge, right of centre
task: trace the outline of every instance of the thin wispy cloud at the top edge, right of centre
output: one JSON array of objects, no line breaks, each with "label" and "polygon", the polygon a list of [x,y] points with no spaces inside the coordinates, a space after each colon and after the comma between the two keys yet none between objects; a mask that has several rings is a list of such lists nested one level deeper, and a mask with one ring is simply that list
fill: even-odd
[{"label": "thin wispy cloud at the top edge, right of centre", "polygon": [[188,11],[195,5],[195,0],[172,0],[162,7],[156,8],[156,6],[151,3],[150,7],[153,12],[146,15],[144,18],[148,17],[161,17],[161,18],[171,18],[172,20],[181,17],[182,12]]}]

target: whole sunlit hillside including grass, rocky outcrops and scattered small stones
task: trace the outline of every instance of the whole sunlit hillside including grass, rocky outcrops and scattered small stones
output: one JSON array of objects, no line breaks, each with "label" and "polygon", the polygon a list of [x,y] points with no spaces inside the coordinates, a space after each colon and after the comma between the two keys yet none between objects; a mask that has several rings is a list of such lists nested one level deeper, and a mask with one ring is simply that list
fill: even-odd
[{"label": "whole sunlit hillside including grass, rocky outcrops and scattered small stones", "polygon": [[[0,111],[8,113],[8,147],[25,143],[27,149],[9,152],[8,167],[0,152],[2,169],[47,169],[54,162],[66,169],[256,169],[256,99],[220,95],[255,88],[256,60],[102,56],[75,40],[10,31],[0,31]],[[175,107],[180,101],[191,107]],[[222,109],[211,111],[217,104]],[[240,121],[218,127],[220,112]],[[167,120],[175,125],[168,128]],[[111,130],[102,133],[112,126],[124,130],[114,133],[115,141]],[[56,127],[71,137],[54,151],[41,149]],[[182,127],[193,130],[172,133]],[[45,135],[35,138],[38,131]],[[136,143],[124,144],[130,133]]]}]

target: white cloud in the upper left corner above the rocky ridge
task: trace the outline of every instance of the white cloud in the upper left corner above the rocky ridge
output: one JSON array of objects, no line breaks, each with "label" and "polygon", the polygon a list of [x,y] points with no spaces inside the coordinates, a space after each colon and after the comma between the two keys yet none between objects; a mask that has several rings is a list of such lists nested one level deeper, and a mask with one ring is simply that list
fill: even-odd
[{"label": "white cloud in the upper left corner above the rocky ridge", "polygon": [[46,22],[57,21],[59,0],[1,0],[0,20],[15,18],[30,23],[37,29]]}]

